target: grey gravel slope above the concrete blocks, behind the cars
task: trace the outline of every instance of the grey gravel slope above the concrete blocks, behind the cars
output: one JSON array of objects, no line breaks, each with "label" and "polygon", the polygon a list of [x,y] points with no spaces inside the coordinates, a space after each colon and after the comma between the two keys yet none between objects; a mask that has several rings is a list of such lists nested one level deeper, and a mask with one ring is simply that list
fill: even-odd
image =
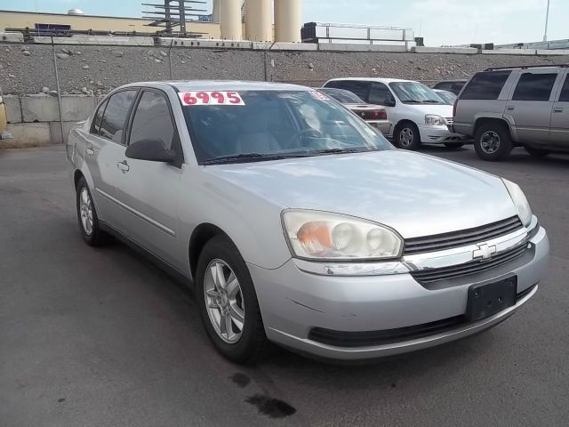
[{"label": "grey gravel slope above the concrete blocks, behind the cars", "polygon": [[[397,77],[434,83],[488,67],[567,63],[569,56],[384,52],[260,52],[148,46],[56,45],[62,93],[107,93],[136,81],[244,79],[321,85],[333,77]],[[4,93],[56,89],[51,45],[0,43]]]}]

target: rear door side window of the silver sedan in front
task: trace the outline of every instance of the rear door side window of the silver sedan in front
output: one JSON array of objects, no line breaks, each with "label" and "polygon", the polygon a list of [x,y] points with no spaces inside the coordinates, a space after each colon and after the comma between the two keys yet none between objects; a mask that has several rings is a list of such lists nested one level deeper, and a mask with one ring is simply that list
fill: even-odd
[{"label": "rear door side window of the silver sedan in front", "polygon": [[124,143],[126,119],[136,98],[137,90],[115,93],[108,99],[107,108],[100,122],[100,136],[119,144]]}]

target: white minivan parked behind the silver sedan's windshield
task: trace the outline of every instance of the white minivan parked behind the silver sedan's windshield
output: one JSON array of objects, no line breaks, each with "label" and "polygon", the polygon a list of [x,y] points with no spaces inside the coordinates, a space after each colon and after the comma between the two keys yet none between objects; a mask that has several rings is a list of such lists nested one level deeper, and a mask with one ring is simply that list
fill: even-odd
[{"label": "white minivan parked behind the silver sedan's windshield", "polygon": [[345,89],[362,100],[385,107],[393,131],[388,135],[400,149],[419,149],[421,143],[459,148],[469,141],[451,132],[453,107],[428,86],[392,78],[334,78],[325,87]]}]

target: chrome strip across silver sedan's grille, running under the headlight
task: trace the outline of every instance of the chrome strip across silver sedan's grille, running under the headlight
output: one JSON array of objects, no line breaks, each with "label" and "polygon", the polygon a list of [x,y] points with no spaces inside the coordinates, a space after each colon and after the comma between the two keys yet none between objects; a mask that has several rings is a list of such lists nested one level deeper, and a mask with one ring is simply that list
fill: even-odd
[{"label": "chrome strip across silver sedan's grille, running under the headlight", "polygon": [[[532,222],[527,228],[516,230],[501,238],[493,238],[479,244],[485,243],[488,246],[496,246],[497,251],[495,255],[499,255],[516,246],[528,244],[529,237],[537,226],[537,218],[533,216]],[[293,258],[293,262],[299,270],[317,274],[318,276],[387,276],[391,274],[405,274],[412,271],[460,266],[461,264],[475,261],[473,253],[477,250],[479,244],[455,247],[439,252],[404,256],[401,258],[401,261],[313,262]]]}]

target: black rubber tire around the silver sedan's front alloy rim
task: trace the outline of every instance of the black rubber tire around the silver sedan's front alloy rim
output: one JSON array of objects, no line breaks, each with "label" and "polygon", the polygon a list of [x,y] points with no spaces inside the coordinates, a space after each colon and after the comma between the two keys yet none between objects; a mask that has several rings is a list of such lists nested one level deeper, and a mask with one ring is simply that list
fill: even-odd
[{"label": "black rubber tire around the silver sedan's front alloy rim", "polygon": [[[208,314],[204,281],[206,270],[214,260],[225,262],[235,274],[240,286],[244,304],[244,326],[237,342],[231,343],[221,339]],[[264,356],[268,350],[268,339],[260,316],[255,287],[241,254],[228,238],[217,236],[205,244],[197,262],[196,300],[205,332],[225,358],[235,363],[247,364],[258,361]]]}]

